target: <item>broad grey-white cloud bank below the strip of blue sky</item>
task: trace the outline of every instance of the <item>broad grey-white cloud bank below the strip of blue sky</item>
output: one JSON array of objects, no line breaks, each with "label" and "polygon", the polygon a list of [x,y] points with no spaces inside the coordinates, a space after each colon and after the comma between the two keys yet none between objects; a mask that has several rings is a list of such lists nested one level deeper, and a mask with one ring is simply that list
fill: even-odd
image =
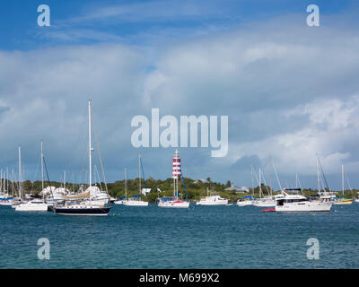
[{"label": "broad grey-white cloud bank below the strip of blue sky", "polygon": [[0,127],[11,135],[0,143],[3,161],[13,161],[17,143],[35,150],[43,137],[58,169],[80,161],[76,139],[86,136],[92,98],[109,178],[129,162],[136,170],[137,152],[151,176],[171,176],[173,151],[130,144],[132,117],[150,117],[151,108],[161,116],[229,116],[225,158],[210,158],[211,148],[180,151],[188,177],[249,185],[243,164],[267,166],[270,156],[285,176],[305,177],[315,173],[316,152],[329,174],[342,163],[356,172],[359,40],[351,29],[276,19],[162,43],[150,48],[151,59],[147,48],[115,44],[0,52]]}]

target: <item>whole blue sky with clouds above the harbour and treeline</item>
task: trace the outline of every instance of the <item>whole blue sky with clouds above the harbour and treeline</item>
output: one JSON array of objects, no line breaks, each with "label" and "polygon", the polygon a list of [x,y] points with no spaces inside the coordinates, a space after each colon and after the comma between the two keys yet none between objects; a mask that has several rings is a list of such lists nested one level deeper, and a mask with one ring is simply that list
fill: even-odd
[{"label": "whole blue sky with clouds above the harbour and treeline", "polygon": [[[39,4],[50,26],[39,27]],[[307,25],[309,4],[320,26]],[[251,166],[278,188],[328,186],[341,166],[359,187],[359,4],[355,1],[33,1],[0,4],[0,168],[39,179],[87,177],[87,100],[94,164],[107,181],[171,178],[174,147],[136,148],[133,117],[227,116],[229,148],[179,147],[183,175],[251,186]],[[96,135],[96,136],[95,136]],[[97,139],[97,141],[95,141]],[[97,174],[94,175],[97,178]],[[102,177],[101,177],[102,178]],[[346,186],[347,188],[348,186]]]}]

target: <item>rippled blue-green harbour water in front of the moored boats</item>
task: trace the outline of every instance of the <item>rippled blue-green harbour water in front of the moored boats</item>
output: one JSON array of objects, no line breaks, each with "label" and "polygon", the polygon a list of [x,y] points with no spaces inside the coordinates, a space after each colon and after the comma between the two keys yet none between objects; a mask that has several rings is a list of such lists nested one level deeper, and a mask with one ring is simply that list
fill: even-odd
[{"label": "rippled blue-green harbour water in front of the moored boats", "polygon": [[[39,260],[48,238],[50,259]],[[309,260],[306,242],[320,241]],[[359,268],[359,204],[330,213],[255,206],[115,205],[108,217],[18,213],[0,206],[0,268]]]}]

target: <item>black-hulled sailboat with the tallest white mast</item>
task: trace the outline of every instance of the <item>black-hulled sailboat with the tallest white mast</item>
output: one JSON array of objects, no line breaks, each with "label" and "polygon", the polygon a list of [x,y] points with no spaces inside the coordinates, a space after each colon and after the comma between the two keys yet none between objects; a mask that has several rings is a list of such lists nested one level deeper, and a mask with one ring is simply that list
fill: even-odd
[{"label": "black-hulled sailboat with the tallest white mast", "polygon": [[[111,206],[108,204],[99,204],[92,200],[92,103],[89,100],[89,188],[88,191],[79,195],[77,201],[71,198],[63,205],[54,205],[55,213],[59,215],[91,215],[106,216],[109,214]],[[64,196],[65,197],[65,196]]]}]

